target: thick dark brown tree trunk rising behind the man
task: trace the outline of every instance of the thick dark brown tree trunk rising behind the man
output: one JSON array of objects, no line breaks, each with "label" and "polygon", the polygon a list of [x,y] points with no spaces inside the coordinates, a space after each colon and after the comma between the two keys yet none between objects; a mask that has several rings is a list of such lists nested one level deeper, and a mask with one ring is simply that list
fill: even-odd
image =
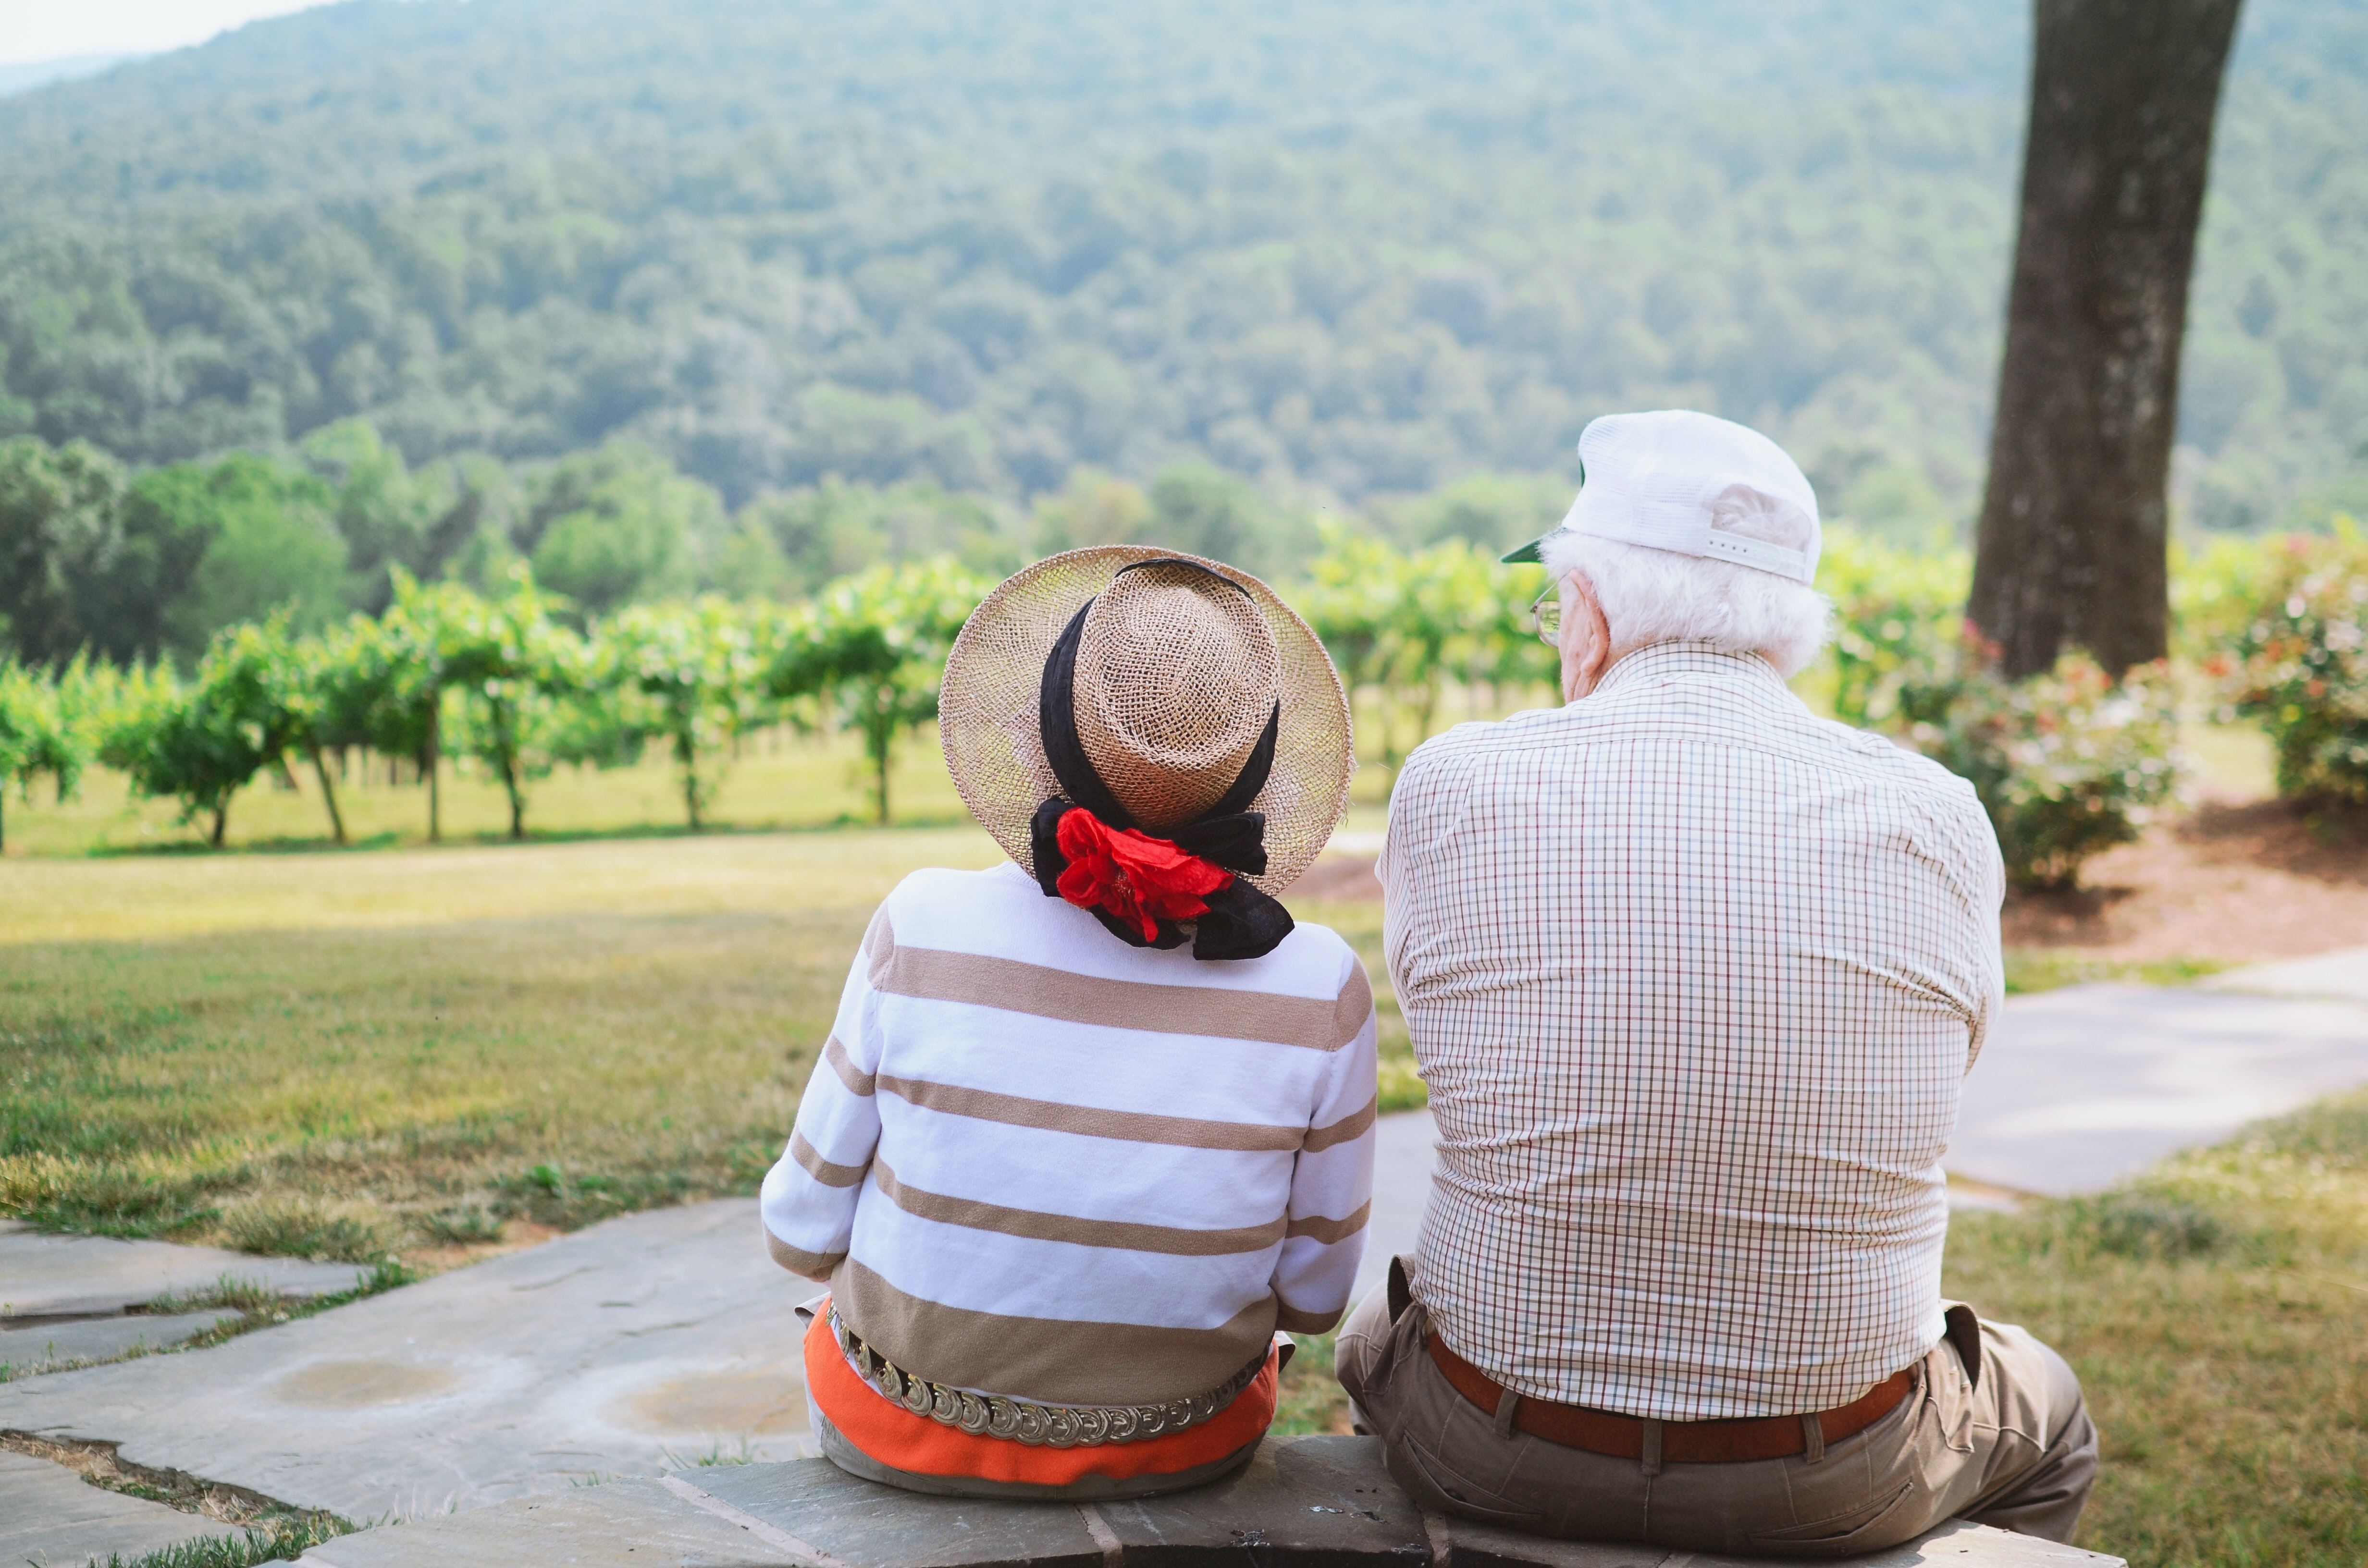
[{"label": "thick dark brown tree trunk rising behind the man", "polygon": [[2240,0],[2034,0],[2022,234],[1968,613],[2010,677],[2169,649],[2179,343]]}]

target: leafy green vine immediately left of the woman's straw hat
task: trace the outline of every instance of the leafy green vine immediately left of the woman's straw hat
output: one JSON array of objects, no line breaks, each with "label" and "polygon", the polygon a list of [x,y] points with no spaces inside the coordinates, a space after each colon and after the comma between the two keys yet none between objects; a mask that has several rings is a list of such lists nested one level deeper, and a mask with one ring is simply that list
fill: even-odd
[{"label": "leafy green vine immediately left of the woman's straw hat", "polygon": [[961,623],[995,583],[954,561],[874,566],[831,585],[815,606],[812,642],[789,642],[777,692],[822,675],[838,715],[864,741],[874,820],[888,824],[895,744],[938,718],[938,680]]}]

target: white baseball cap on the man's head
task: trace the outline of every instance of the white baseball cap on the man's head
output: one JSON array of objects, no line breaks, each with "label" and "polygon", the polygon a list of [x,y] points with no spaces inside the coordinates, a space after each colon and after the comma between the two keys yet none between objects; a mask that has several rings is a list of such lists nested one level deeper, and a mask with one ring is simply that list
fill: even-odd
[{"label": "white baseball cap on the man's head", "polygon": [[[1807,547],[1788,550],[1714,528],[1722,502],[1778,516],[1790,523],[1785,533],[1807,538]],[[1781,445],[1731,419],[1681,407],[1589,422],[1579,431],[1579,497],[1553,533],[1733,561],[1795,583],[1816,580],[1821,540],[1816,490]],[[1542,545],[1553,533],[1501,559],[1544,561]]]}]

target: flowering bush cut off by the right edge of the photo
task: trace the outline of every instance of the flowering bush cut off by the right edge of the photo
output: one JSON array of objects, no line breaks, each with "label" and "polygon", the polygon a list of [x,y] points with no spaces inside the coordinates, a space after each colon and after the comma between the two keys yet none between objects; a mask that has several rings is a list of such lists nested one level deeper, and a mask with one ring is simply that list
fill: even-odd
[{"label": "flowering bush cut off by the right edge of the photo", "polygon": [[2335,533],[2269,550],[2250,623],[2212,666],[2238,713],[2278,751],[2278,793],[2368,803],[2368,538]]}]

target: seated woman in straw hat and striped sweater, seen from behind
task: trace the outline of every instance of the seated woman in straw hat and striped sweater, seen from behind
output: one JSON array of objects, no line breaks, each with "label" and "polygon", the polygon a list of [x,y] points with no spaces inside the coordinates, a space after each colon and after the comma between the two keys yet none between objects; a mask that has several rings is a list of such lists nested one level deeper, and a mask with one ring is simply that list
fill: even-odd
[{"label": "seated woman in straw hat and striped sweater, seen from behind", "polygon": [[921,1492],[1227,1476],[1364,1251],[1373,997],[1274,900],[1347,803],[1340,680],[1257,578],[1080,550],[978,606],[940,730],[1011,862],[888,895],[765,1177],[831,1286],[815,1435]]}]

